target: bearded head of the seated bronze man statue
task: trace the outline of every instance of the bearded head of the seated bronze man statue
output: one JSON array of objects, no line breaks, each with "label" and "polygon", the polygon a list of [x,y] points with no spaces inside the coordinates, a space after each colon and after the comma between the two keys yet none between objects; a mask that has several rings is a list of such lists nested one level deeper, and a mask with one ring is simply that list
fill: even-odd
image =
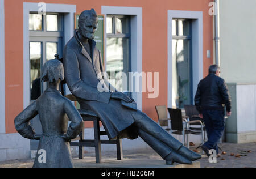
[{"label": "bearded head of the seated bronze man statue", "polygon": [[79,16],[79,32],[85,39],[93,39],[98,16],[94,9],[83,11]]}]

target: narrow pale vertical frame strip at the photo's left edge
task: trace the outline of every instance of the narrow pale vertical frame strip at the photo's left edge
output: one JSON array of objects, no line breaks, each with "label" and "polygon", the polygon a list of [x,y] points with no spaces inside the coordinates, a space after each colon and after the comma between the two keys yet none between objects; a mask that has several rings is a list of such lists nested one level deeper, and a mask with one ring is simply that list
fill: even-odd
[{"label": "narrow pale vertical frame strip at the photo's left edge", "polygon": [[5,1],[0,0],[0,134],[5,134]]}]

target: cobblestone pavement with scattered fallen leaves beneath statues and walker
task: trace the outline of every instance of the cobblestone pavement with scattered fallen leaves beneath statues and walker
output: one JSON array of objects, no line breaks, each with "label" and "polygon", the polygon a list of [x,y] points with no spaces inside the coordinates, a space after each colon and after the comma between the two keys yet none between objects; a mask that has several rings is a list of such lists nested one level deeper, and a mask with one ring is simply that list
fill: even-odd
[{"label": "cobblestone pavement with scattered fallen leaves beneath statues and walker", "polygon": [[[217,158],[217,163],[209,163],[208,157],[198,160],[201,168],[256,168],[256,143],[219,145],[222,148],[221,154]],[[195,147],[191,147],[195,149]],[[199,150],[201,154],[201,150]],[[226,153],[226,154],[225,154]],[[94,156],[94,153],[85,153],[85,156]],[[76,156],[74,156],[76,157]],[[115,152],[102,152],[102,157],[115,157]],[[123,151],[123,157],[129,159],[161,159],[151,148],[144,150]],[[0,168],[30,168],[34,163],[33,159],[12,160],[0,163]]]}]

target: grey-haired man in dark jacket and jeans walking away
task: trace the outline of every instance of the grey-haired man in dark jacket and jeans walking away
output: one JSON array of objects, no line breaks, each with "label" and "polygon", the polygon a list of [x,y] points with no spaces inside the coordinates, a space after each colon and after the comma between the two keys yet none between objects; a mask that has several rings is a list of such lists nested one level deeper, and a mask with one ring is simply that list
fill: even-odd
[{"label": "grey-haired man in dark jacket and jeans walking away", "polygon": [[217,142],[224,132],[224,105],[226,115],[231,115],[231,97],[225,80],[220,78],[220,67],[209,67],[209,75],[201,80],[197,87],[195,105],[199,116],[203,118],[207,130],[208,141],[201,146],[209,156],[209,150],[218,154]]}]

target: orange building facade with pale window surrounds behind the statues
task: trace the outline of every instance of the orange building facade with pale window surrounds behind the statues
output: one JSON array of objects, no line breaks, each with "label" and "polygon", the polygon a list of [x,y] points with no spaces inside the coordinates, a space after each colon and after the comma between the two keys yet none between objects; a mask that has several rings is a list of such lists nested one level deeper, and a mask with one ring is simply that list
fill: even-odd
[{"label": "orange building facade with pale window surrounds behind the statues", "polygon": [[[27,157],[30,145],[16,134],[14,118],[30,104],[30,24],[29,14],[39,11],[39,2],[35,0],[0,0],[0,161]],[[208,74],[208,67],[213,63],[213,16],[209,15],[211,0],[44,0],[46,13],[54,12],[63,15],[63,46],[73,36],[75,14],[94,8],[98,14],[104,15],[104,62],[108,63],[108,27],[109,15],[124,15],[130,19],[130,71],[138,73],[159,74],[152,84],[158,85],[158,95],[152,95],[147,89],[133,93],[138,108],[154,119],[158,116],[156,105],[169,107],[182,105],[175,98],[174,82],[174,50],[179,40],[189,41],[189,82],[190,100],[195,93],[197,83]],[[174,25],[180,25],[179,19],[189,22],[188,34],[183,28],[182,38],[174,31]],[[176,21],[175,21],[176,20]],[[176,22],[176,24],[175,24]],[[181,23],[182,25],[182,23]],[[184,24],[183,24],[184,25]],[[177,36],[176,36],[177,34]],[[185,44],[185,42],[183,41]],[[187,47],[188,48],[188,47]],[[184,49],[183,49],[184,50]],[[182,66],[180,66],[182,69]],[[186,67],[185,67],[186,68]],[[156,74],[155,74],[156,75]],[[156,75],[157,76],[157,75]],[[142,82],[143,83],[143,82]],[[178,82],[177,82],[178,83]],[[186,94],[185,94],[186,95]],[[19,141],[23,141],[20,144]],[[11,143],[18,143],[15,147]],[[11,154],[16,154],[11,157]],[[2,157],[1,157],[2,156]]]}]

